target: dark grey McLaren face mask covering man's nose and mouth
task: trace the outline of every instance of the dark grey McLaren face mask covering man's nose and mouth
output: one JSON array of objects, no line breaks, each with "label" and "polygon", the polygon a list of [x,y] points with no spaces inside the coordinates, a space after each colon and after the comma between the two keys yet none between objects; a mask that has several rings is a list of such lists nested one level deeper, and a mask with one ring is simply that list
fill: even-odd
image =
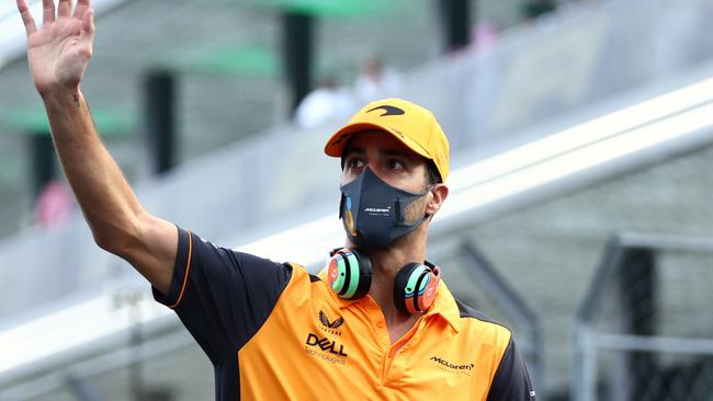
[{"label": "dark grey McLaren face mask covering man's nose and mouth", "polygon": [[339,217],[347,237],[359,247],[385,248],[414,231],[428,217],[407,225],[406,207],[428,194],[412,194],[382,181],[369,168],[354,181],[341,187]]}]

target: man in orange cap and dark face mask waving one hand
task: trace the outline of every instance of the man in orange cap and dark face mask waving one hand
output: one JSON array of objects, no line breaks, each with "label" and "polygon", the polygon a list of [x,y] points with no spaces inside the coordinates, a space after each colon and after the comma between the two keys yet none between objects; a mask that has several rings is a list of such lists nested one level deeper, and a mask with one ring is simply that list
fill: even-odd
[{"label": "man in orange cap and dark face mask waving one hand", "polygon": [[[30,70],[63,168],[97,243],[152,285],[215,367],[216,399],[532,400],[510,332],[461,305],[427,262],[448,197],[448,140],[433,115],[389,99],[327,142],[342,161],[344,248],[319,276],[217,248],[148,214],[102,146],[79,89],[92,53],[89,0],[44,0]],[[56,15],[55,15],[56,14]]]}]

